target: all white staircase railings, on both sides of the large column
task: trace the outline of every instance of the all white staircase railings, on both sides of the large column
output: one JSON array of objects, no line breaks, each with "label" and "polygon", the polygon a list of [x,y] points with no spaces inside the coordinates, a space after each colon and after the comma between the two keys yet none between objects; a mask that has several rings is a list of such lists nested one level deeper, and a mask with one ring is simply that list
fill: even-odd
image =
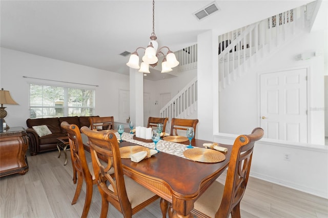
[{"label": "all white staircase railings, on both sides of the large column", "polygon": [[[317,1],[218,36],[219,91],[242,75],[251,73],[256,64],[270,58],[271,54],[306,30],[316,4]],[[179,71],[197,67],[197,45],[175,54],[180,61]],[[161,108],[160,117],[168,117],[167,126],[170,126],[172,118],[190,118],[196,110],[197,78],[194,78]]]}]

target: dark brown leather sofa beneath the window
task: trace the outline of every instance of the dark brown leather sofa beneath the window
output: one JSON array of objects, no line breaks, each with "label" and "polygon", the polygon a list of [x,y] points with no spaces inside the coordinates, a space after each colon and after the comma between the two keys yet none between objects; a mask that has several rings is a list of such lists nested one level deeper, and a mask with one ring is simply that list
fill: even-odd
[{"label": "dark brown leather sofa beneath the window", "polygon": [[[99,117],[99,116],[95,116]],[[59,117],[59,118],[38,118],[38,119],[27,119],[26,133],[29,139],[30,154],[37,155],[40,152],[56,150],[58,137],[67,136],[65,129],[60,127],[60,123],[63,121],[69,124],[76,124],[78,128],[82,126],[90,126],[90,117]],[[33,126],[47,125],[52,134],[39,137]]]}]

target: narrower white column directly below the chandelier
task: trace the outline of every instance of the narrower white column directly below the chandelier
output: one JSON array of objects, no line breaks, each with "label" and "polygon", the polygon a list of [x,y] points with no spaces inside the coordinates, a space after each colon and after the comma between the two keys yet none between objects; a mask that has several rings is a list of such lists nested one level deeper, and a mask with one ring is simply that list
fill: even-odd
[{"label": "narrower white column directly below the chandelier", "polygon": [[144,126],[144,75],[130,68],[130,119]]}]

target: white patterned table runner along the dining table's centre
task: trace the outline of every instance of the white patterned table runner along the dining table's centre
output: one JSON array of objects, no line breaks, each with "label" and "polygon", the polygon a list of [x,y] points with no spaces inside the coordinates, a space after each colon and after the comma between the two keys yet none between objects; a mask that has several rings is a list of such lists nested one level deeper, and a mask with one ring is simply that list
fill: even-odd
[{"label": "white patterned table runner along the dining table's centre", "polygon": [[[119,139],[119,133],[115,133],[115,136],[117,139]],[[145,147],[148,147],[148,148],[151,148],[151,149],[154,149],[155,148],[155,144],[154,142],[141,142],[141,141],[138,141],[138,140],[134,140],[133,139],[133,134],[130,134],[130,133],[123,133],[122,134],[122,140],[124,141],[127,141],[127,142],[131,142],[131,143],[134,143],[134,144],[138,144],[138,145],[141,145],[141,146],[145,146]],[[175,155],[175,156],[178,156],[178,157],[181,157],[181,158],[186,158],[184,155],[183,155],[183,151],[187,150],[187,149],[191,149],[191,148],[187,148],[188,145],[185,145],[185,144],[179,144],[179,143],[176,143],[176,142],[168,142],[168,141],[165,141],[165,140],[159,140],[157,142],[157,150],[159,151],[162,151],[162,152],[166,152],[170,155]],[[188,158],[186,158],[188,159]]]}]

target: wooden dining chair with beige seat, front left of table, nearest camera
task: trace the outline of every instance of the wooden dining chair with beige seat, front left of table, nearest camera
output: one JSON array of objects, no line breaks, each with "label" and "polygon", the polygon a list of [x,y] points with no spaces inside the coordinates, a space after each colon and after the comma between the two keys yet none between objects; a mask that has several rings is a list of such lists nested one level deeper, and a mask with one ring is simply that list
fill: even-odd
[{"label": "wooden dining chair with beige seat, front left of table, nearest camera", "polygon": [[[149,189],[123,175],[119,147],[113,132],[92,131],[86,126],[81,128],[81,132],[89,138],[92,165],[101,194],[100,217],[107,217],[109,203],[124,217],[132,217],[133,214],[159,198]],[[108,157],[108,162],[106,164],[99,162],[98,155]],[[112,166],[114,178],[108,173]],[[103,177],[109,184],[104,181]]]}]

